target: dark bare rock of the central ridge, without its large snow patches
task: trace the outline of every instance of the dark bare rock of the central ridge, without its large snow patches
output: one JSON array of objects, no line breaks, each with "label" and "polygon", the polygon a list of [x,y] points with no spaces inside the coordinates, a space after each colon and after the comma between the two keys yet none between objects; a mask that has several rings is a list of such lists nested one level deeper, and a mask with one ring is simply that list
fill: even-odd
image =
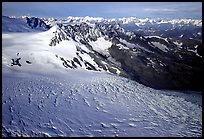
[{"label": "dark bare rock of the central ridge, without its large snow patches", "polygon": [[[157,89],[193,89],[200,90],[202,83],[202,42],[189,40],[165,39],[160,37],[144,37],[133,32],[127,32],[118,24],[86,23],[77,25],[62,25],[64,32],[74,40],[85,44],[89,54],[98,67],[116,74],[117,68],[121,76],[131,78],[147,86]],[[112,42],[108,55],[93,50],[90,42],[103,37]],[[174,41],[183,44],[179,47]],[[197,47],[193,47],[196,46]],[[189,50],[197,50],[198,54]],[[82,51],[80,52],[82,53]],[[112,63],[115,59],[120,65]],[[77,59],[73,60],[79,63]],[[106,64],[104,64],[104,62]],[[96,70],[86,63],[89,70]]]}]

